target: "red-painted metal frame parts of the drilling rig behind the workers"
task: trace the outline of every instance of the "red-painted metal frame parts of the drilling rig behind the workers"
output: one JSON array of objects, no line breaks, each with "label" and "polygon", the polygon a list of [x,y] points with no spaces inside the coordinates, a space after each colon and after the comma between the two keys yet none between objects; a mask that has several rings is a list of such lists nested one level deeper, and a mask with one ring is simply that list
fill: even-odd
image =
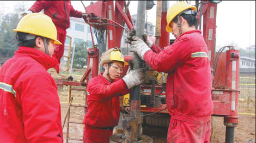
[{"label": "red-painted metal frame parts of the drilling rig behind the workers", "polygon": [[[237,110],[239,100],[240,52],[231,46],[227,46],[229,50],[226,53],[221,53],[222,51],[215,52],[217,4],[211,3],[210,1],[202,1],[201,3],[204,5],[202,11],[198,11],[198,19],[200,19],[200,15],[204,16],[203,36],[208,46],[212,77],[214,79],[212,87],[212,100],[214,101],[213,116],[224,117],[224,125],[227,126],[226,142],[234,142],[234,127],[237,126],[239,118]],[[120,47],[121,34],[123,33],[123,29],[125,29],[124,27],[123,29],[121,28],[123,20],[129,29],[133,28],[129,9],[125,14],[124,7],[126,7],[125,1],[115,1],[115,7],[113,1],[98,1],[86,7],[86,14],[83,14],[84,21],[90,26],[96,29],[107,30],[109,48]],[[162,36],[159,39],[159,46],[162,48],[169,45],[169,33],[165,31],[167,24],[166,14],[167,11],[162,11]],[[95,47],[94,41],[93,45],[93,48],[90,48],[88,51],[88,69],[81,82],[57,82],[57,84],[86,86],[85,81],[97,76],[99,72],[99,49]],[[125,56],[125,60],[133,60],[133,56]],[[156,85],[155,92],[160,91],[161,87]],[[166,109],[166,104],[161,104],[160,107],[142,107],[141,111],[144,113],[154,113],[163,109]],[[168,114],[168,110],[163,110],[160,113]]]}]

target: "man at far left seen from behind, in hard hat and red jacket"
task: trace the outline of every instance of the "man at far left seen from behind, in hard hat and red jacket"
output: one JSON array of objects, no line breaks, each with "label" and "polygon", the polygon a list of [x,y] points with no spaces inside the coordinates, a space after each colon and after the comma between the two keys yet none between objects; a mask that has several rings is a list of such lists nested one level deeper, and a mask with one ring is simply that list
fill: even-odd
[{"label": "man at far left seen from behind, in hard hat and red jacket", "polygon": [[14,29],[19,49],[0,69],[0,142],[63,142],[57,86],[47,70],[57,29],[51,18],[34,13]]}]

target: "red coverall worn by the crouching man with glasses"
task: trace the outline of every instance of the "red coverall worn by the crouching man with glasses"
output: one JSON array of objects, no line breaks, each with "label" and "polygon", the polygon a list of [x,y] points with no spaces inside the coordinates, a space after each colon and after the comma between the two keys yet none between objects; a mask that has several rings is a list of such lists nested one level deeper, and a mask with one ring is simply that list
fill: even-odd
[{"label": "red coverall worn by the crouching man with glasses", "polygon": [[[84,115],[84,143],[107,143],[120,115],[119,95],[129,92],[123,79],[109,82],[102,74],[89,80],[88,112]],[[109,127],[109,128],[108,128]]]}]

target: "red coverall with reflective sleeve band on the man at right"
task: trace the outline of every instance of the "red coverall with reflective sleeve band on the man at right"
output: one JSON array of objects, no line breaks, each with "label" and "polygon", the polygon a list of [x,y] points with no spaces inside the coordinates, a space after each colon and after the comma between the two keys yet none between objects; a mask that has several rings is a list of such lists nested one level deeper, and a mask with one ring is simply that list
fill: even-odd
[{"label": "red coverall with reflective sleeve band on the man at right", "polygon": [[208,49],[200,30],[182,34],[170,46],[144,54],[154,70],[168,73],[166,102],[172,119],[167,142],[209,142],[211,69]]}]

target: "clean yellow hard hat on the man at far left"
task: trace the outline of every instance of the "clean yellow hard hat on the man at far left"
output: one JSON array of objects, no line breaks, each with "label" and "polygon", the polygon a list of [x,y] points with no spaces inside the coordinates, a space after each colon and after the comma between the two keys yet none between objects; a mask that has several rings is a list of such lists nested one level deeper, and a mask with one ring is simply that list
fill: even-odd
[{"label": "clean yellow hard hat on the man at far left", "polygon": [[22,17],[14,31],[42,36],[54,40],[54,44],[62,45],[57,40],[57,29],[51,17],[45,14],[33,13]]}]

